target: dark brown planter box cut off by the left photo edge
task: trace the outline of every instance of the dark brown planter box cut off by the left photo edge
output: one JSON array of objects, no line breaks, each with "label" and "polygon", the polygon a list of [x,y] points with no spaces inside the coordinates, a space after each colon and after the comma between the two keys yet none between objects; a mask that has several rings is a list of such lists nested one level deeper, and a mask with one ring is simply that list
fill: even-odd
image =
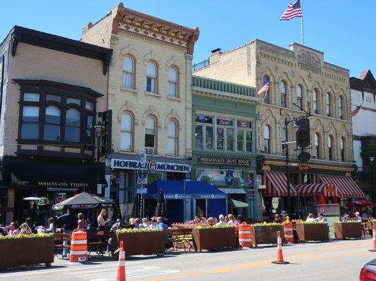
[{"label": "dark brown planter box cut off by the left photo edge", "polygon": [[0,268],[54,262],[54,237],[0,240]]}]

